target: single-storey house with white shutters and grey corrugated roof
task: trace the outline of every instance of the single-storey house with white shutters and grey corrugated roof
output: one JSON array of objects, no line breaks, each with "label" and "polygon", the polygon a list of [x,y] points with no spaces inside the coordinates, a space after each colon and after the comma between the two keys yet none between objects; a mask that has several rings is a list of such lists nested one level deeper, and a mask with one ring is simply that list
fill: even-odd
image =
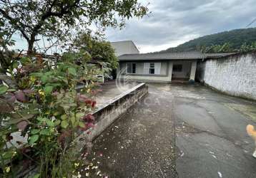
[{"label": "single-storey house with white shutters and grey corrugated roof", "polygon": [[124,54],[119,56],[118,78],[154,82],[195,80],[197,61],[206,56],[197,51]]}]

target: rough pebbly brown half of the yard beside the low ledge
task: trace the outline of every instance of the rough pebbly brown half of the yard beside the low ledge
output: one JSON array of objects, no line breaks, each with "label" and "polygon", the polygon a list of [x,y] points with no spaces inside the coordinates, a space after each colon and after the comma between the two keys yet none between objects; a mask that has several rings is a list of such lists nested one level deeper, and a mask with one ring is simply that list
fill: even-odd
[{"label": "rough pebbly brown half of the yard beside the low ledge", "polygon": [[99,136],[94,141],[92,159],[102,174],[175,177],[172,108],[169,93],[150,88],[140,103]]}]

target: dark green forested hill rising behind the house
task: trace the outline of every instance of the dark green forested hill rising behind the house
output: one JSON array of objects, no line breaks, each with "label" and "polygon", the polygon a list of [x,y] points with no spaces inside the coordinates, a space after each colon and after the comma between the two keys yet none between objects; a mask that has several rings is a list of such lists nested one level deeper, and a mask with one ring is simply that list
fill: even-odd
[{"label": "dark green forested hill rising behind the house", "polygon": [[255,41],[256,28],[241,28],[195,38],[175,48],[168,48],[165,51],[194,51],[202,46],[223,45],[224,43],[230,43],[233,49],[239,49],[242,44],[251,44]]}]

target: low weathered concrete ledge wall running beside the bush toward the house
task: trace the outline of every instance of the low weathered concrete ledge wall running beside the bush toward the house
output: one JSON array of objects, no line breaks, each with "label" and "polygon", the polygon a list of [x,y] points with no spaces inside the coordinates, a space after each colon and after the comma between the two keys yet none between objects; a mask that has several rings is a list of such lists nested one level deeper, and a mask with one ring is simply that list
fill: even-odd
[{"label": "low weathered concrete ledge wall running beside the bush toward the house", "polygon": [[[92,129],[82,132],[77,138],[77,142],[81,145],[85,142],[94,140],[117,118],[126,112],[134,103],[137,103],[144,95],[148,93],[148,87],[145,83],[141,83],[126,92],[117,95],[117,97],[109,100],[108,103],[102,105],[101,108],[95,110],[92,115],[95,117],[95,125]],[[84,142],[84,143],[83,143]],[[79,144],[80,145],[80,144]]]}]

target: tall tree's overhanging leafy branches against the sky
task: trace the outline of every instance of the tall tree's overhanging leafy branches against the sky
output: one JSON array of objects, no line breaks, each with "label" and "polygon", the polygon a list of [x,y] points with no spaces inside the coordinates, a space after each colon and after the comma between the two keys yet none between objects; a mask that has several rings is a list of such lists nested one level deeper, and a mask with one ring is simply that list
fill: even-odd
[{"label": "tall tree's overhanging leafy branches against the sky", "polygon": [[147,8],[137,0],[0,0],[0,19],[4,21],[1,26],[18,31],[26,39],[29,53],[39,40],[37,36],[64,38],[77,22],[85,28],[93,22],[103,27],[121,27],[125,19],[146,13]]}]

